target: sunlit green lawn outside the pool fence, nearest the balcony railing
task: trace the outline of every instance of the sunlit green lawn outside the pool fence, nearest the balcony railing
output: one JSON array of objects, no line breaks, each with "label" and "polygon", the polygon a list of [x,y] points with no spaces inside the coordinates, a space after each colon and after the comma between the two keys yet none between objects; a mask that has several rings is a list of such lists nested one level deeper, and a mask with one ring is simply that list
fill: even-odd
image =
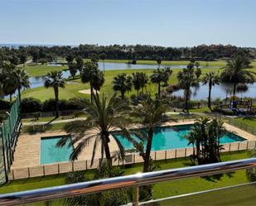
[{"label": "sunlit green lawn outside the pool fence, nearest the balcony railing", "polygon": [[[247,158],[249,155],[246,151],[239,151],[234,153],[226,153],[222,155],[222,160],[238,160]],[[171,168],[180,168],[190,165],[190,160],[184,158],[180,160],[167,160],[159,161],[157,170],[166,170]],[[142,165],[126,166],[124,175],[131,175],[142,171]],[[91,178],[94,174],[93,170],[85,172],[88,178]],[[248,182],[245,175],[245,170],[239,170],[234,172],[231,176],[223,175],[220,180],[205,180],[203,178],[190,178],[186,180],[165,181],[162,183],[154,184],[153,197],[154,199],[165,198],[177,194],[185,194],[196,192],[205,189],[214,189],[218,187],[224,187],[234,184],[242,184]],[[44,188],[49,186],[56,186],[65,184],[65,175],[51,175],[41,178],[31,178],[28,180],[13,180],[8,184],[4,184],[0,187],[0,193],[10,193],[15,191],[22,191],[26,189]]]}]

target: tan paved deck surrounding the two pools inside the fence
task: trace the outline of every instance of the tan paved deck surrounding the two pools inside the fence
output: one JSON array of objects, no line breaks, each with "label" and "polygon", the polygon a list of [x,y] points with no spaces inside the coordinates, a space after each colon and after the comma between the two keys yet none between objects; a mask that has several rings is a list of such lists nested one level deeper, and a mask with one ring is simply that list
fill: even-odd
[{"label": "tan paved deck surrounding the two pools inside the fence", "polygon": [[[176,126],[176,125],[186,125],[193,124],[194,121],[191,122],[166,122],[162,124],[162,126]],[[255,141],[256,136],[250,134],[249,132],[244,132],[243,130],[231,126],[228,123],[224,123],[226,130],[229,132],[234,132],[236,135],[247,139],[248,141]],[[133,126],[133,127],[139,127]],[[92,131],[93,132],[93,131]],[[54,131],[54,132],[41,132],[36,134],[22,134],[17,141],[16,151],[14,152],[14,161],[12,163],[11,169],[24,168],[24,167],[33,167],[40,165],[40,142],[41,137],[54,137],[54,136],[62,136],[66,135],[66,132],[63,131]],[[116,141],[114,141],[114,137],[110,135],[110,143],[109,143],[110,151],[118,151],[118,145]],[[89,141],[88,146],[85,147],[83,151],[81,151],[80,156],[78,156],[78,160],[90,160],[92,156],[92,151],[94,148],[94,140]],[[100,146],[97,147],[95,153],[95,160],[99,160],[100,158]]]}]

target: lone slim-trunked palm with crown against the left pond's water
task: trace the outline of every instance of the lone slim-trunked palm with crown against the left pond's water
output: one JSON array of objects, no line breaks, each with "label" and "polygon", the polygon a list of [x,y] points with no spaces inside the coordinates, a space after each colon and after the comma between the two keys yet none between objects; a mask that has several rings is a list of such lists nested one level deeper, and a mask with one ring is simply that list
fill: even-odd
[{"label": "lone slim-trunked palm with crown against the left pond's water", "polygon": [[51,71],[46,74],[45,87],[54,89],[56,98],[56,118],[59,117],[59,88],[65,88],[65,80],[61,71]]}]

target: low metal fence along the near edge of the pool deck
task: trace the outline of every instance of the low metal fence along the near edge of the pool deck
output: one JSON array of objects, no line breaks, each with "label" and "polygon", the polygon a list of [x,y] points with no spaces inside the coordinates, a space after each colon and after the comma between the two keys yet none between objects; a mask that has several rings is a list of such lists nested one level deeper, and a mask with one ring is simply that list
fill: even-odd
[{"label": "low metal fence along the near edge of the pool deck", "polygon": [[[256,147],[256,141],[236,141],[223,145],[221,152],[252,150]],[[193,147],[173,149],[168,151],[152,151],[152,160],[171,160],[181,157],[189,157],[193,154]],[[142,163],[142,157],[138,153],[129,153],[124,160],[114,160],[113,165],[134,165]],[[26,179],[31,177],[41,177],[46,175],[59,175],[67,172],[91,170],[99,166],[99,160],[94,160],[90,165],[90,160],[75,160],[71,162],[56,163],[50,165],[38,165],[33,167],[15,168],[9,172],[9,180]]]}]

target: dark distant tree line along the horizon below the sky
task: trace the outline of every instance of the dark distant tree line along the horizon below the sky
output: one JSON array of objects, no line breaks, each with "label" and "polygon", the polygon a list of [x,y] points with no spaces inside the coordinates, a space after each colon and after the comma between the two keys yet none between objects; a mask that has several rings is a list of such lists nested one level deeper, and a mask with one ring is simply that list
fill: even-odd
[{"label": "dark distant tree line along the horizon below the sky", "polygon": [[220,58],[230,58],[234,53],[242,50],[249,55],[250,50],[237,46],[223,45],[200,45],[194,47],[164,47],[164,46],[20,46],[16,48],[0,47],[0,65],[9,61],[12,65],[25,64],[28,56],[36,64],[50,62],[57,57],[65,58],[67,55],[78,56],[80,58],[91,58],[93,55],[101,55],[100,59],[113,60],[215,60]]}]

